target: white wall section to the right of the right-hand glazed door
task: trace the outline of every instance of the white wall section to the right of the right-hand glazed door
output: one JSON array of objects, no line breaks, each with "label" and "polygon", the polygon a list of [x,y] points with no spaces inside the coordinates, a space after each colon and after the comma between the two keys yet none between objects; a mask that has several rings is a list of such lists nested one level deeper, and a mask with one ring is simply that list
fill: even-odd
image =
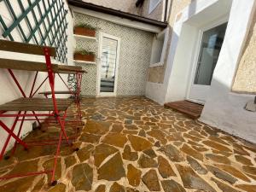
[{"label": "white wall section to the right of the right-hand glazed door", "polygon": [[201,121],[256,143],[255,113],[244,109],[253,96],[230,92],[254,9],[254,1],[233,0],[226,37]]}]

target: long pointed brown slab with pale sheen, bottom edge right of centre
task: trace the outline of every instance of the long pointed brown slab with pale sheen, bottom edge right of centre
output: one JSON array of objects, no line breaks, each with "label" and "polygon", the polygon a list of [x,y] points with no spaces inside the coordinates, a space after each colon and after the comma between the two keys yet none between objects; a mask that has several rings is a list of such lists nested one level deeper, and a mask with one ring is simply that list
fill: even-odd
[{"label": "long pointed brown slab with pale sheen, bottom edge right of centre", "polygon": [[176,167],[185,188],[216,192],[211,185],[199,177],[189,166],[176,165]]}]

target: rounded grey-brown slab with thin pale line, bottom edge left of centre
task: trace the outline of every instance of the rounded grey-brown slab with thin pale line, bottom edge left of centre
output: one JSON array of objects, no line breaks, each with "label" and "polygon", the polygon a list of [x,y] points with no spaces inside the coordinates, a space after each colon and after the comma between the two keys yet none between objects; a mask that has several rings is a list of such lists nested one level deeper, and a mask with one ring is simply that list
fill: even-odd
[{"label": "rounded grey-brown slab with thin pale line, bottom edge left of centre", "polygon": [[88,164],[84,163],[73,167],[71,183],[76,190],[89,191],[91,189],[92,179],[93,170]]}]

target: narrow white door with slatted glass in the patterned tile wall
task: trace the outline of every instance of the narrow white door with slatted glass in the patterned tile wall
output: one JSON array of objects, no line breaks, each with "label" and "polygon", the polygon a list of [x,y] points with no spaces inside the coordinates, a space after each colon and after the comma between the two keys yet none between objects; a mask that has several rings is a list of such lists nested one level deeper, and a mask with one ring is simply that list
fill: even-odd
[{"label": "narrow white door with slatted glass in the patterned tile wall", "polygon": [[98,96],[116,96],[120,39],[106,33],[100,34],[98,65]]}]

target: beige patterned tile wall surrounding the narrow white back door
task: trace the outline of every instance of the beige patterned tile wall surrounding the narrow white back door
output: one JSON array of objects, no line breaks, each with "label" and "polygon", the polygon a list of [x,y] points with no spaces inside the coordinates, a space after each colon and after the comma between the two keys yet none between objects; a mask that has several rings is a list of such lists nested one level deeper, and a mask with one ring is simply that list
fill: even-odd
[{"label": "beige patterned tile wall surrounding the narrow white back door", "polygon": [[[77,40],[78,49],[89,49],[96,52],[97,55],[100,32],[121,38],[117,95],[143,96],[145,94],[154,34],[131,27],[120,26],[89,15],[75,13],[74,25],[81,23],[87,23],[97,28],[96,41]],[[82,66],[88,71],[83,77],[82,94],[95,96],[96,65],[77,65]]]}]

